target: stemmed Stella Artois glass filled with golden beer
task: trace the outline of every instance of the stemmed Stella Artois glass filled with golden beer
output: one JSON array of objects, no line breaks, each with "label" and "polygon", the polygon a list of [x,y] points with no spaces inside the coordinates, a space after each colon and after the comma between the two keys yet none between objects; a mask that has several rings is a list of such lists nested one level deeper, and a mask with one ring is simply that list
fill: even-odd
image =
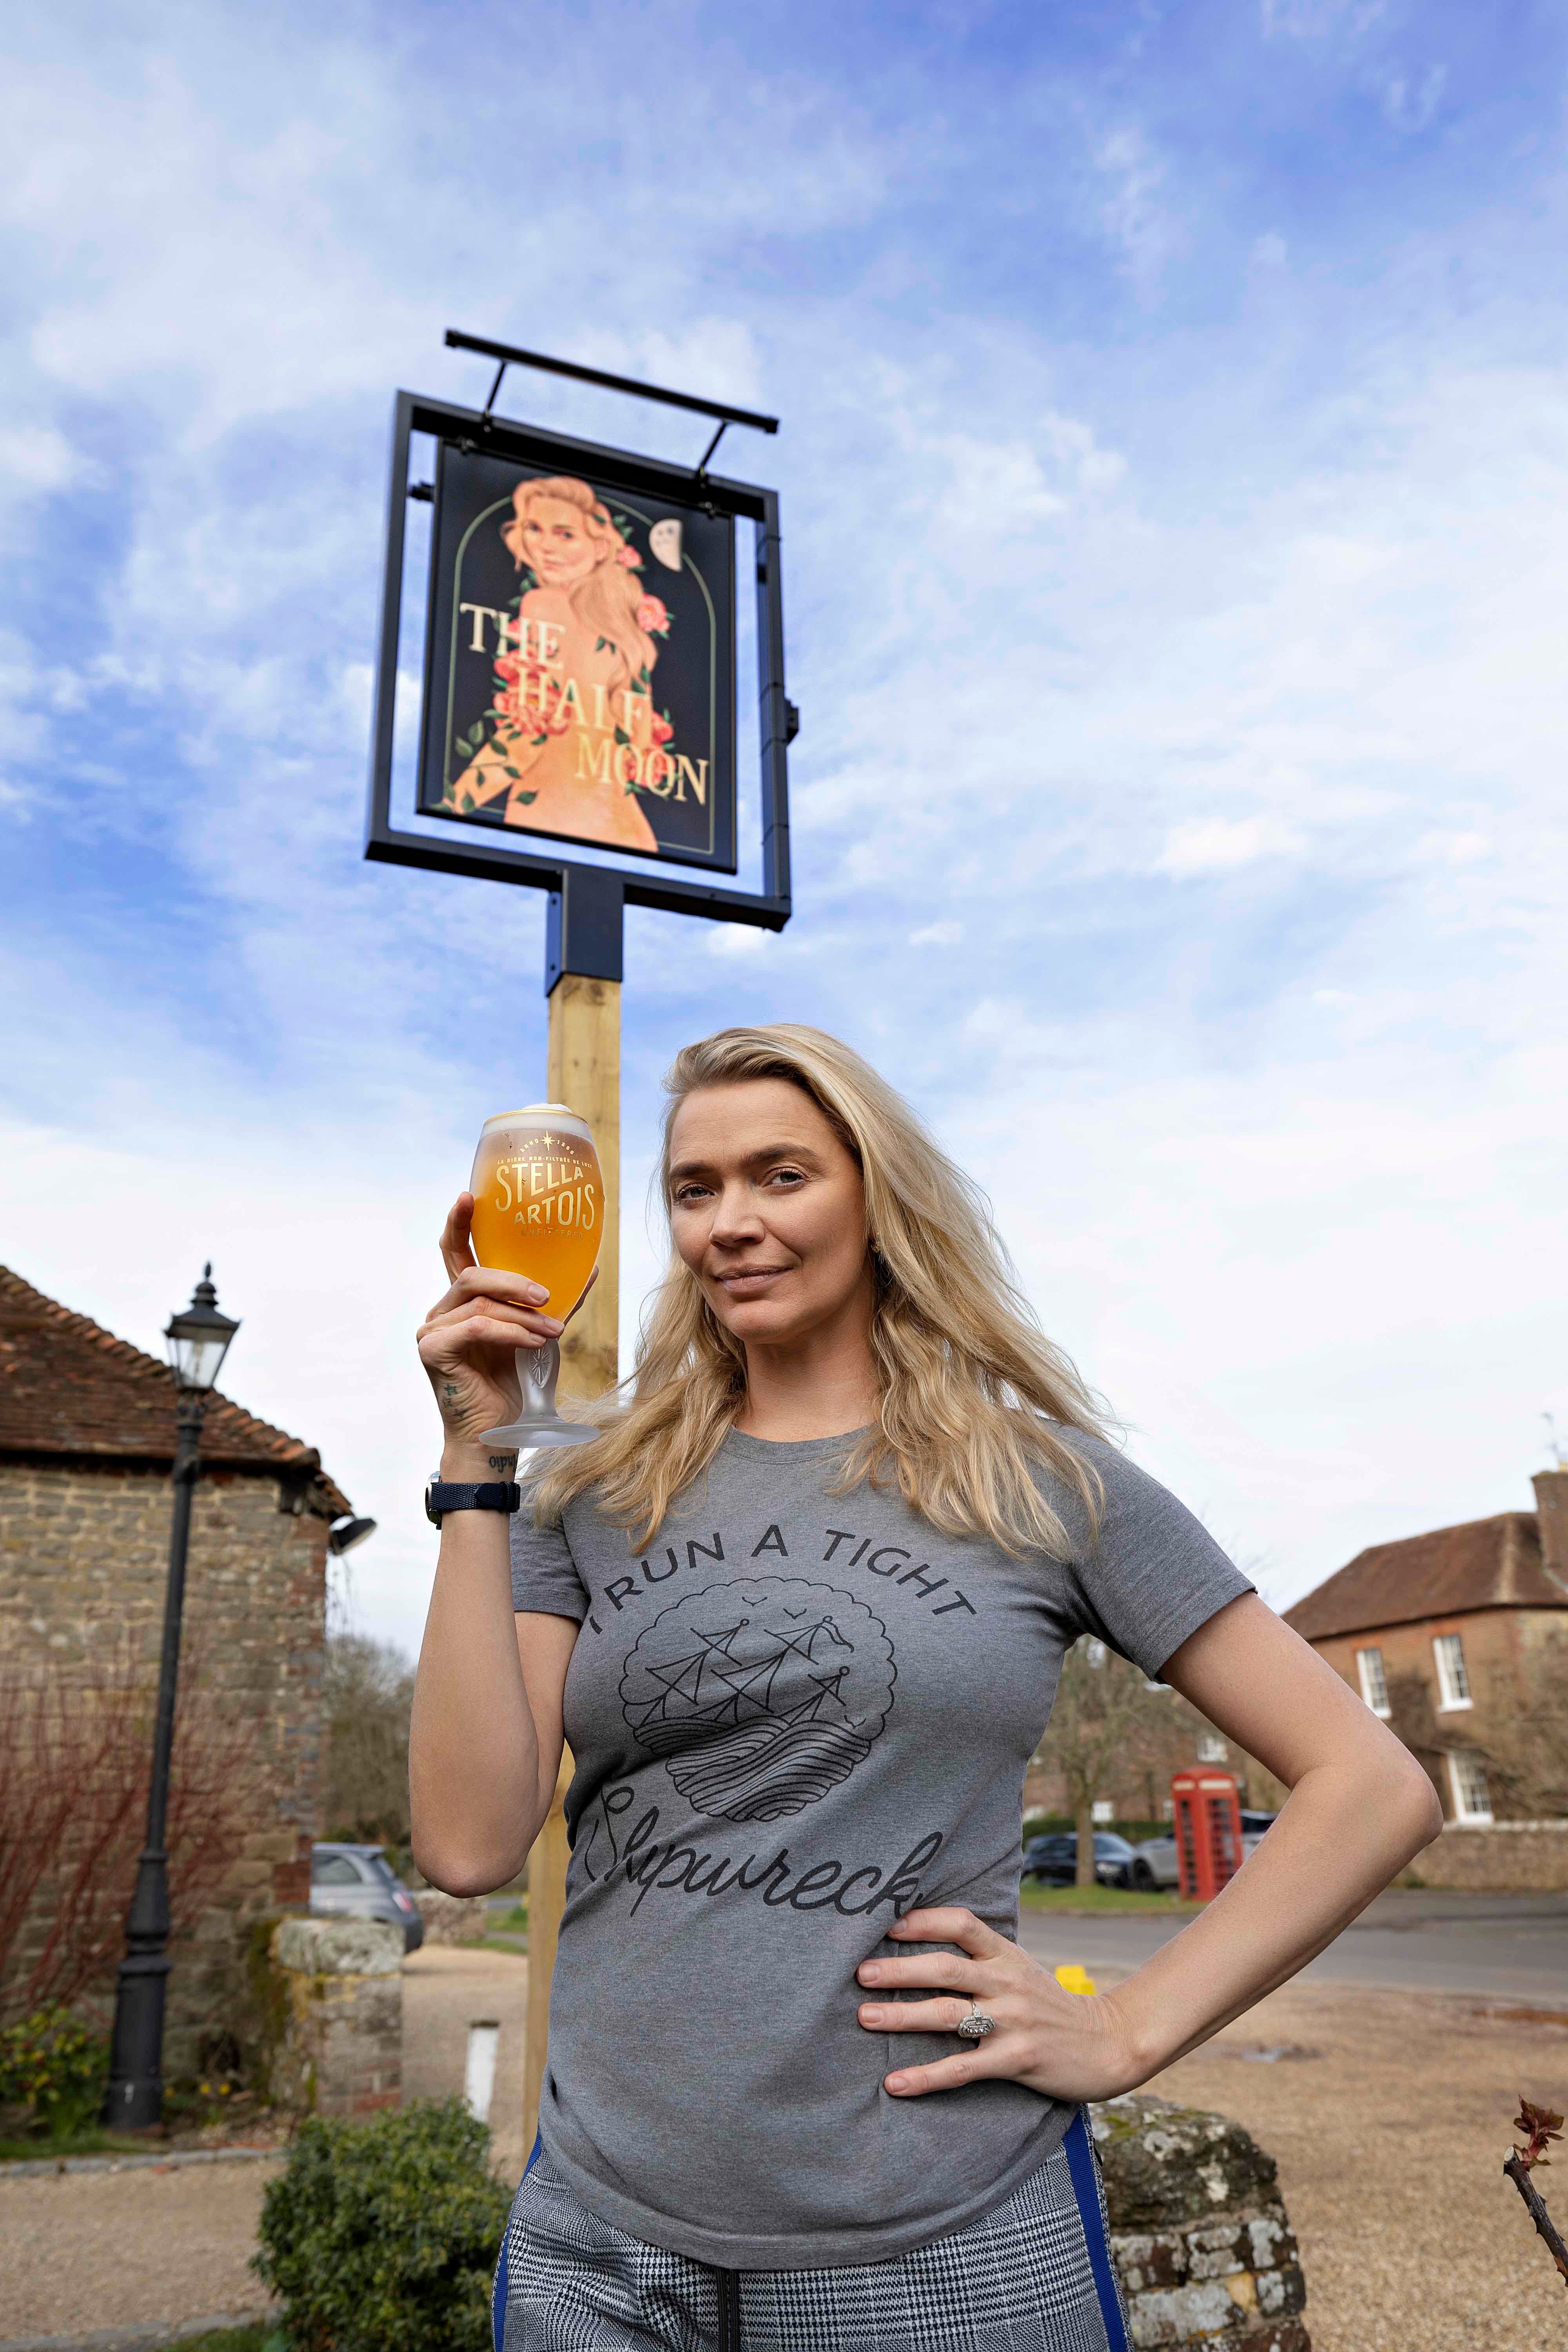
[{"label": "stemmed Stella Artois glass filled with golden beer", "polygon": [[[468,1190],[480,1265],[543,1282],[548,1312],[567,1322],[588,1289],[604,1230],[604,1178],[588,1120],[564,1103],[496,1112],[480,1129]],[[557,1414],[559,1369],[559,1341],[517,1350],[522,1414],[484,1430],[487,1446],[581,1446],[599,1435]]]}]

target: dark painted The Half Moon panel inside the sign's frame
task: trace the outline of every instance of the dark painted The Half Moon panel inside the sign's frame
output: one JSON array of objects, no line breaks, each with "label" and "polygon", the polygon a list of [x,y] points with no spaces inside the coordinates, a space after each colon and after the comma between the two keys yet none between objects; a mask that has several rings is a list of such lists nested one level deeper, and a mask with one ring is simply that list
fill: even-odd
[{"label": "dark painted The Half Moon panel inside the sign's frame", "polygon": [[440,445],[425,816],[736,870],[733,517],[698,501]]}]

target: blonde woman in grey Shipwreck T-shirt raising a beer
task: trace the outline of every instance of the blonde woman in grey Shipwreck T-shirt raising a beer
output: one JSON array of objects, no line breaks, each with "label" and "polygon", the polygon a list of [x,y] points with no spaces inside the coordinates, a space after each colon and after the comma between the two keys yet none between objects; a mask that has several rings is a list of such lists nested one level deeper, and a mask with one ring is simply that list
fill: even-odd
[{"label": "blonde woman in grey Shipwreck T-shirt raising a beer", "polygon": [[[505,2352],[1126,2343],[1084,2100],[1284,1983],[1439,1828],[1429,1783],[1098,1430],[973,1185],[849,1047],[724,1030],[668,1080],[675,1251],[632,1399],[512,1519],[442,1524],[414,1851],[520,1870],[576,1778]],[[510,1477],[473,1265],[421,1327],[447,1479]],[[1293,1790],[1227,1891],[1091,1999],[1020,1952],[1023,1773],[1095,1635]],[[987,2333],[990,2331],[990,2333]]]}]

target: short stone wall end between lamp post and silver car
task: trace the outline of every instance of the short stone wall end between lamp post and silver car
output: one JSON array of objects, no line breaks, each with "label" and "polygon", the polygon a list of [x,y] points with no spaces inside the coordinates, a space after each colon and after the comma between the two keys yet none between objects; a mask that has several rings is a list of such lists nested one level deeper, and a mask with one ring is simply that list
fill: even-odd
[{"label": "short stone wall end between lamp post and silver car", "polygon": [[268,2089],[292,2114],[374,2114],[402,2098],[402,1929],[280,1919]]}]

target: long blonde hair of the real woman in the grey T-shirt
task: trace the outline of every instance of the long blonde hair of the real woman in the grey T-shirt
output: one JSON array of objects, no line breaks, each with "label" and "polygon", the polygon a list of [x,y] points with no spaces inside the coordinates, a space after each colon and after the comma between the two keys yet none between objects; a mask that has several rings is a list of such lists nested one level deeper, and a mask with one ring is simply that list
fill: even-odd
[{"label": "long blonde hair of the real woman in the grey T-shirt", "polygon": [[[865,1183],[882,1402],[830,1491],[849,1494],[863,1479],[896,1484],[947,1536],[990,1536],[1011,1555],[1067,1557],[1067,1531],[1037,1472],[1077,1489],[1098,1524],[1100,1475],[1060,1432],[1103,1435],[1103,1416],[1023,1298],[980,1188],[851,1047],[795,1021],[719,1030],[684,1047],[665,1077],[665,1214],[679,1105],[701,1087],[764,1077],[811,1096]],[[745,1348],[675,1251],[618,1395],[609,1418],[592,1416],[602,1435],[548,1465],[534,1508],[550,1524],[597,1489],[604,1517],[642,1550],[675,1496],[719,1451],[745,1399]]]}]

